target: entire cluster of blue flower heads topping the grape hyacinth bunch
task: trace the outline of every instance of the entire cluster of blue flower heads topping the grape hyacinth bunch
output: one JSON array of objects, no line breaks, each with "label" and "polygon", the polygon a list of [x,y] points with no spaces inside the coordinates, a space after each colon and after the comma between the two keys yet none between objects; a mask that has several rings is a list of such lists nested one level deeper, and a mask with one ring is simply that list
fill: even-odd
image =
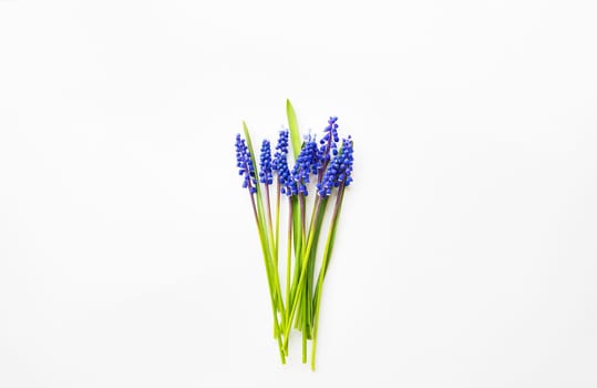
[{"label": "entire cluster of blue flower heads topping the grape hyacinth bunch", "polygon": [[[311,175],[316,175],[317,193],[321,197],[331,194],[333,187],[348,186],[352,182],[352,140],[342,139],[340,150],[338,143],[338,118],[332,116],[323,130],[323,137],[317,142],[315,136],[307,136],[292,170],[288,166],[288,130],[280,131],[274,157],[268,140],[261,144],[259,157],[259,182],[270,185],[274,182],[274,172],[277,173],[280,192],[288,196],[308,195],[308,185]],[[236,136],[236,159],[239,174],[244,176],[243,187],[250,193],[256,190],[255,167],[245,140]]]}]

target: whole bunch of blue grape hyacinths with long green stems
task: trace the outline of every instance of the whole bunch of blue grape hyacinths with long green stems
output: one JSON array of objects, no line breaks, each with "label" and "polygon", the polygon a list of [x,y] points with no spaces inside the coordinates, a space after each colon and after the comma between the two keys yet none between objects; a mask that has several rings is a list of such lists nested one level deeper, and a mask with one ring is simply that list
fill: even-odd
[{"label": "whole bunch of blue grape hyacinths with long green stems", "polygon": [[[346,187],[352,182],[352,140],[348,136],[340,141],[338,118],[332,116],[319,141],[312,135],[301,141],[289,101],[286,109],[289,129],[279,132],[274,156],[270,142],[264,140],[257,165],[248,127],[243,123],[245,137],[236,136],[236,159],[257,225],[274,315],[274,337],[281,363],[286,364],[290,331],[295,327],[302,334],[303,364],[307,363],[307,344],[311,341],[315,370],[323,279]],[[295,160],[292,167],[291,159]],[[307,201],[309,192],[315,194],[311,201]],[[280,222],[281,206],[288,208],[287,222]],[[326,212],[328,207],[330,211]],[[329,221],[325,224],[326,213]],[[280,246],[280,228],[287,228],[286,247]],[[318,243],[326,232],[326,244],[318,261]]]}]

